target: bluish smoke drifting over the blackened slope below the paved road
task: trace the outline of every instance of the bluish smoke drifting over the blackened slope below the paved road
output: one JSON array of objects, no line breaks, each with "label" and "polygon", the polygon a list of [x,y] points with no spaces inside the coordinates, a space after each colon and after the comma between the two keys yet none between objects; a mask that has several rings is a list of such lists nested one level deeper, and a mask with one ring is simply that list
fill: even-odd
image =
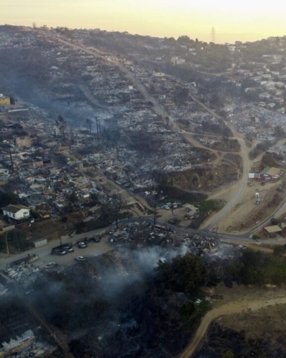
[{"label": "bluish smoke drifting over the blackened slope below the paved road", "polygon": [[[160,260],[170,261],[192,250],[189,243],[137,250],[121,247],[59,272],[41,274],[33,291],[23,292],[23,299],[67,334],[76,357],[93,357],[91,352],[99,358],[166,357],[161,349],[150,347],[159,332],[158,319],[162,320],[162,313],[157,318],[154,314],[168,307],[168,330],[180,319],[178,307],[187,298],[182,293],[157,296],[154,269]],[[229,254],[231,247],[215,250],[217,259]]]}]

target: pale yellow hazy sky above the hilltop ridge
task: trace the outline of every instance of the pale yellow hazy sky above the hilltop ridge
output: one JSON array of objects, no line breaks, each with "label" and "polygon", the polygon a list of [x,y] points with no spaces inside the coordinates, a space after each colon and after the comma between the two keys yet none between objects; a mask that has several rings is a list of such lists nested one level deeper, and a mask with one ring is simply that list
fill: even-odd
[{"label": "pale yellow hazy sky above the hilltop ridge", "polygon": [[0,24],[68,26],[216,42],[286,35],[286,0],[0,0]]}]

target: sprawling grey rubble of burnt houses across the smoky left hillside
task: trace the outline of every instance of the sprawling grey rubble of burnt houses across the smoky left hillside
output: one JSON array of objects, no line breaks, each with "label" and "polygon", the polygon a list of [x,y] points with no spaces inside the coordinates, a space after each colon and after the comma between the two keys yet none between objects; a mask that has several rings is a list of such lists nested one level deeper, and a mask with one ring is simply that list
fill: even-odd
[{"label": "sprawling grey rubble of burnt houses across the smoky left hillside", "polygon": [[[184,171],[211,164],[208,151],[184,143],[180,133],[170,130],[155,113],[152,103],[114,62],[124,63],[146,89],[152,87],[154,97],[168,108],[175,121],[188,119],[199,125],[209,117],[208,112],[196,109],[191,100],[184,105],[174,101],[177,86],[196,94],[194,84],[158,75],[111,54],[87,54],[43,32],[18,30],[14,36],[11,36],[13,31],[2,32],[1,39],[9,40],[0,42],[0,50],[16,46],[19,53],[26,48],[30,53],[35,52],[35,56],[39,53],[38,66],[46,75],[41,105],[33,102],[38,96],[32,93],[26,102],[21,101],[29,109],[25,126],[11,128],[9,124],[1,128],[5,141],[15,143],[12,160],[21,180],[16,187],[17,194],[25,197],[30,206],[37,209],[37,205],[46,205],[46,211],[56,216],[72,209],[71,194],[76,197],[74,208],[88,205],[94,189],[91,178],[85,177],[86,181],[82,182],[82,178],[73,177],[86,167],[96,168],[132,190],[140,187],[147,190],[154,185],[158,171]],[[80,30],[74,34],[82,42],[89,35]],[[82,79],[82,86],[72,83],[71,73]],[[28,104],[30,101],[32,104]],[[91,104],[96,106],[97,118]],[[61,113],[64,120],[59,121],[55,113]],[[90,128],[85,120],[78,118],[90,118]],[[4,150],[3,158],[0,176],[13,179],[8,149]]]}]

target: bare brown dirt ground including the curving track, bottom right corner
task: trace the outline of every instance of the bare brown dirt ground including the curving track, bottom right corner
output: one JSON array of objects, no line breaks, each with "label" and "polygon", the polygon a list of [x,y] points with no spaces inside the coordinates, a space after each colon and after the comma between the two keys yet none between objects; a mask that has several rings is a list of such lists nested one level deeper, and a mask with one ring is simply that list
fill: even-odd
[{"label": "bare brown dirt ground including the curving track, bottom right corner", "polygon": [[[214,300],[214,297],[216,300]],[[205,339],[207,331],[214,320],[219,320],[229,328],[239,331],[253,331],[257,328],[257,333],[282,331],[286,307],[286,288],[257,288],[237,286],[226,288],[219,285],[211,295],[213,309],[210,310],[202,319],[195,335],[189,345],[179,356],[180,358],[192,357],[202,341]],[[281,316],[279,314],[282,313]],[[253,318],[253,322],[250,318]],[[257,320],[256,320],[257,318]],[[269,327],[259,327],[259,325]],[[284,323],[285,325],[285,323]]]}]

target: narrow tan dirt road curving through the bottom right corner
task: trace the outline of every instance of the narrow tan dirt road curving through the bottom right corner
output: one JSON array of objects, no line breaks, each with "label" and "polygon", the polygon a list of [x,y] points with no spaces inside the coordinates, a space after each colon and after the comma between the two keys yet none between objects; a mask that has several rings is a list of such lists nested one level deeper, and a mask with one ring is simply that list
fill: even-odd
[{"label": "narrow tan dirt road curving through the bottom right corner", "polygon": [[190,358],[199,348],[202,343],[208,328],[214,319],[222,316],[229,315],[234,313],[246,312],[247,310],[257,311],[261,308],[265,308],[268,306],[273,306],[277,304],[286,304],[286,297],[279,298],[261,298],[259,300],[239,300],[235,302],[225,303],[221,306],[215,307],[211,311],[209,311],[205,317],[203,318],[195,336],[192,338],[189,345],[185,348],[185,350],[178,356],[178,358]]}]

